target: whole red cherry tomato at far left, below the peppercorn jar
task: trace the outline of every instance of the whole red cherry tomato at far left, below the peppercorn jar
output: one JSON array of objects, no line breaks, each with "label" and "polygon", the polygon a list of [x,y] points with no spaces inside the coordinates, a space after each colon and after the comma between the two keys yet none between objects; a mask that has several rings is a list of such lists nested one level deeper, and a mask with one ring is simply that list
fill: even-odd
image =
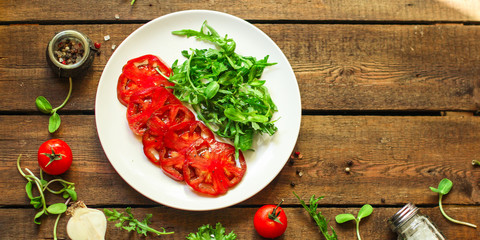
[{"label": "whole red cherry tomato at far left, below the peppercorn jar", "polygon": [[38,149],[38,165],[50,175],[60,175],[72,165],[72,150],[60,139],[50,139]]}]

